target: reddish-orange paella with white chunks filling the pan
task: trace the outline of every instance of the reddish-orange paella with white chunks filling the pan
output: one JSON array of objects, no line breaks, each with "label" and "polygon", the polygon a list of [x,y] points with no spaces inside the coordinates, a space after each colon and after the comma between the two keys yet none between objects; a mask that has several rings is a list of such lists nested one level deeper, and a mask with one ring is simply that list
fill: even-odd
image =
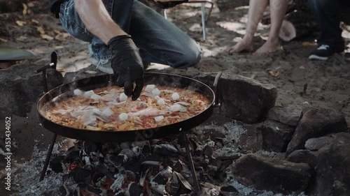
[{"label": "reddish-orange paella with white chunks filling the pan", "polygon": [[109,86],[91,91],[75,89],[74,96],[43,107],[45,118],[62,126],[88,130],[142,130],[189,119],[211,104],[190,89],[148,84],[137,100],[124,89]]}]

